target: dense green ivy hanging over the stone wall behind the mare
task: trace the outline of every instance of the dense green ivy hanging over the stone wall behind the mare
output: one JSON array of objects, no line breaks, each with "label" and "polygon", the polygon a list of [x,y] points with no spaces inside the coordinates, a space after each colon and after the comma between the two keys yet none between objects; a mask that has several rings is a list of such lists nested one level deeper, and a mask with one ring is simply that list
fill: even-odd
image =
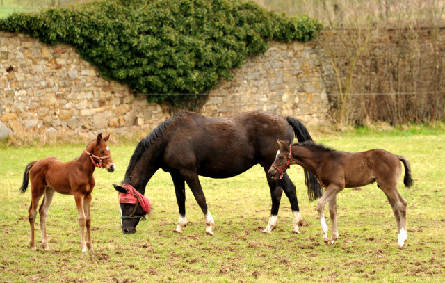
[{"label": "dense green ivy hanging over the stone wall behind the mare", "polygon": [[74,45],[103,76],[172,105],[230,80],[266,40],[305,42],[320,29],[240,0],[101,0],[0,19],[0,30]]}]

